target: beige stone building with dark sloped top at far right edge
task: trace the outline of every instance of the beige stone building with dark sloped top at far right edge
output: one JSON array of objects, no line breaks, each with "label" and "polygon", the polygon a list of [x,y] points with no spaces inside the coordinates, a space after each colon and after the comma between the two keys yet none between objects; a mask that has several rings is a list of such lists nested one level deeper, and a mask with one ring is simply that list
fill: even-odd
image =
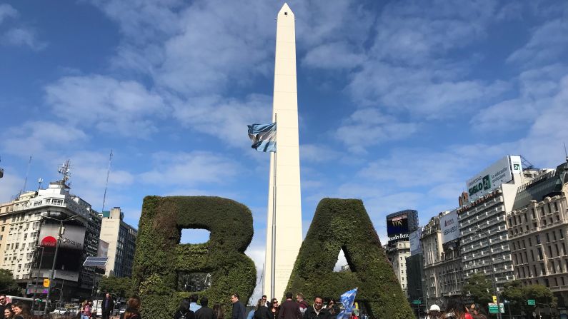
[{"label": "beige stone building with dark sloped top at far right edge", "polygon": [[568,163],[521,186],[507,214],[514,275],[568,305]]}]

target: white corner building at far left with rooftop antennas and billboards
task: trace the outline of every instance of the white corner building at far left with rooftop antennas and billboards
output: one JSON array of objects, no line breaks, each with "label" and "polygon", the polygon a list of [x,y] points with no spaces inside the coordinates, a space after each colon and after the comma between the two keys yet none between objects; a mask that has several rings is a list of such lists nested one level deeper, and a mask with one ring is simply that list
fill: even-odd
[{"label": "white corner building at far left with rooftop antennas and billboards", "polygon": [[51,287],[59,289],[58,299],[91,295],[95,270],[82,263],[96,255],[101,219],[89,203],[69,193],[65,181],[21,193],[0,208],[0,265],[12,271],[28,294],[43,290],[36,288],[35,280],[49,278],[61,228]]}]

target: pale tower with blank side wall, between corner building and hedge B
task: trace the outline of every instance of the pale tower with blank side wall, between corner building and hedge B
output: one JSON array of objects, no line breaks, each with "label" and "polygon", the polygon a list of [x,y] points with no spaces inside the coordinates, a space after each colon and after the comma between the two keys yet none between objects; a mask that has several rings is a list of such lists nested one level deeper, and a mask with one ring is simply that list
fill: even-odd
[{"label": "pale tower with blank side wall, between corner building and hedge B", "polygon": [[130,277],[136,250],[136,228],[123,221],[124,213],[119,207],[102,214],[100,240],[108,243],[105,275]]}]

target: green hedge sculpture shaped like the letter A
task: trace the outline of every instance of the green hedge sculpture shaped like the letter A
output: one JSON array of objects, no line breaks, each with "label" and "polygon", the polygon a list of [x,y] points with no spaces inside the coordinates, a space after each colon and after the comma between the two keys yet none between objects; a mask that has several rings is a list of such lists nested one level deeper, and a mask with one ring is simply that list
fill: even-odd
[{"label": "green hedge sculpture shaped like the letter A", "polygon": [[[334,272],[343,249],[352,272]],[[324,198],[302,243],[287,291],[339,298],[358,287],[356,300],[371,318],[414,318],[363,202]]]}]

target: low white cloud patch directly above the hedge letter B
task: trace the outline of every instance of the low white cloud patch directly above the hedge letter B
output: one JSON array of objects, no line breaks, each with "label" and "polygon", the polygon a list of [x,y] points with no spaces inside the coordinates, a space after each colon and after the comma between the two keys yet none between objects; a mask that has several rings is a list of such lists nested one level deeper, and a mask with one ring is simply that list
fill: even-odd
[{"label": "low white cloud patch directly above the hedge letter B", "polygon": [[239,164],[209,152],[159,152],[152,158],[154,169],[141,173],[140,178],[142,183],[156,187],[228,183],[239,171]]}]

